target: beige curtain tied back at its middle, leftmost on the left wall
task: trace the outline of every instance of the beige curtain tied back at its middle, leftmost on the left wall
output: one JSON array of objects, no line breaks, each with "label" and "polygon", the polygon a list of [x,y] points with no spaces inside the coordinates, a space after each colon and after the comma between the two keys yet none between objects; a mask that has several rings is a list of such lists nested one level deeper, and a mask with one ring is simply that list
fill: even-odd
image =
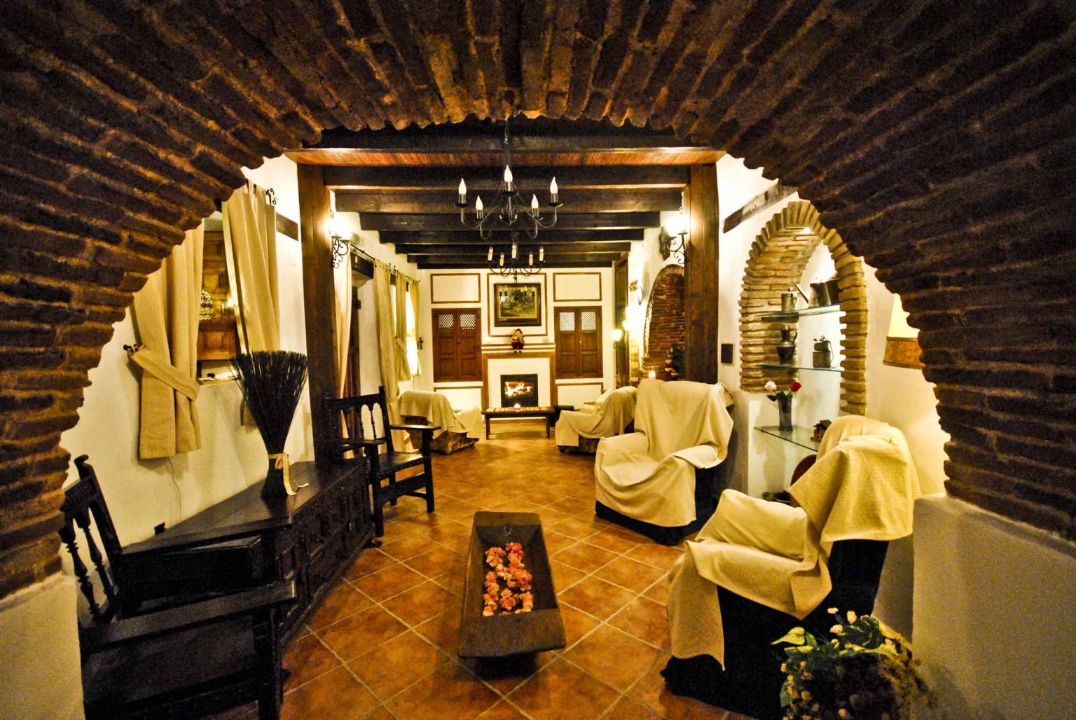
[{"label": "beige curtain tied back at its middle, leftmost on the left wall", "polygon": [[139,457],[198,450],[198,310],[203,231],[187,230],[159,270],[134,294],[140,344],[130,353],[142,369]]}]

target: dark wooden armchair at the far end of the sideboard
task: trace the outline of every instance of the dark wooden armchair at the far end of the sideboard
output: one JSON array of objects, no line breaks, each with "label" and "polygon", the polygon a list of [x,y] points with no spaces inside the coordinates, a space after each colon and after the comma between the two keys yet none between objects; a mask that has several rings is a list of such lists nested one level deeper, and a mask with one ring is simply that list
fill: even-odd
[{"label": "dark wooden armchair at the far end of the sideboard", "polygon": [[[386,503],[396,505],[396,502],[405,495],[425,499],[426,512],[433,512],[433,440],[434,430],[440,429],[440,426],[391,425],[383,386],[373,395],[335,398],[326,393],[324,403],[325,414],[328,417],[329,438],[338,450],[338,458],[346,461],[345,454],[349,451],[362,452],[369,464],[370,491],[373,499],[373,534],[378,537],[385,534],[384,505]],[[379,417],[380,428],[377,421]],[[343,434],[341,419],[346,423],[348,437]],[[393,434],[390,430],[420,430],[421,451],[397,452],[393,447]],[[397,472],[420,465],[423,468],[422,474],[397,480]]]}]

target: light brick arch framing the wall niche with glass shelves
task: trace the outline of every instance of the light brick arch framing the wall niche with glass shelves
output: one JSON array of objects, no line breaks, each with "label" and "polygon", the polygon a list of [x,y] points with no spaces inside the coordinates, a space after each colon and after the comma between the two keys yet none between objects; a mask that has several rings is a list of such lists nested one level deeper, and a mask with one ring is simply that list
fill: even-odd
[{"label": "light brick arch framing the wall niche with glass shelves", "polygon": [[803,200],[790,202],[776,213],[751,243],[740,293],[740,387],[762,393],[767,379],[783,386],[796,377],[795,370],[762,367],[763,363],[778,362],[776,345],[781,339],[781,325],[795,323],[763,320],[759,313],[781,309],[781,293],[792,283],[801,282],[820,242],[825,243],[836,265],[844,311],[840,409],[864,414],[867,409],[867,291],[863,264],[848,251],[836,230],[822,225],[818,210]]}]

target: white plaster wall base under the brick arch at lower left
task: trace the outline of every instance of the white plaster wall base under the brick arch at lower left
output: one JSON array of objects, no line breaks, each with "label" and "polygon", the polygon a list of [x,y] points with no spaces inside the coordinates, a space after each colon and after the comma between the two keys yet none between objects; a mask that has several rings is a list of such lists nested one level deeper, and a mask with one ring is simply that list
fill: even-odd
[{"label": "white plaster wall base under the brick arch at lower left", "polygon": [[83,717],[74,578],[57,573],[0,599],[0,718]]}]

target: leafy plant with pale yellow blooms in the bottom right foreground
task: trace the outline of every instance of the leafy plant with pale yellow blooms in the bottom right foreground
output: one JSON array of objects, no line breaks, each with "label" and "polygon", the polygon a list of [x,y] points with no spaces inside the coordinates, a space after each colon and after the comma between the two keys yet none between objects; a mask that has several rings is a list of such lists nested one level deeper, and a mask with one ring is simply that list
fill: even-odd
[{"label": "leafy plant with pale yellow blooms in the bottom right foreground", "polygon": [[830,608],[830,637],[795,627],[788,643],[781,688],[784,720],[908,720],[933,705],[916,672],[911,648],[900,633],[872,616],[849,610],[844,621]]}]

